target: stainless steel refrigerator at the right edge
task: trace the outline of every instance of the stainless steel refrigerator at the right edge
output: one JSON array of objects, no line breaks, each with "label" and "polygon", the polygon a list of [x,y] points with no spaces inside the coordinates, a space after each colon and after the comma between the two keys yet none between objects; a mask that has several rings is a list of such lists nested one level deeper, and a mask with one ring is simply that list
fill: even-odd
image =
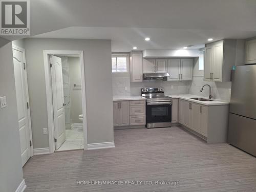
[{"label": "stainless steel refrigerator at the right edge", "polygon": [[228,142],[256,156],[256,65],[232,74]]}]

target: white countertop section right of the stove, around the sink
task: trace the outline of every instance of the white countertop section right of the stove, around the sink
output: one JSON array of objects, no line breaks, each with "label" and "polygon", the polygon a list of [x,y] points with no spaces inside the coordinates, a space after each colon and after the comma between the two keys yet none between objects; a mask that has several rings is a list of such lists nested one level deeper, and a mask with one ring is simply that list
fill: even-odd
[{"label": "white countertop section right of the stove, around the sink", "polygon": [[199,104],[203,104],[206,106],[228,105],[229,104],[229,102],[220,101],[220,100],[216,100],[216,99],[211,99],[213,101],[199,101],[199,100],[191,99],[191,98],[196,98],[196,97],[208,99],[207,97],[202,97],[202,96],[198,96],[198,95],[184,94],[184,95],[166,95],[166,96],[172,97],[173,99],[183,99],[183,100],[191,101],[194,103],[199,103]]}]

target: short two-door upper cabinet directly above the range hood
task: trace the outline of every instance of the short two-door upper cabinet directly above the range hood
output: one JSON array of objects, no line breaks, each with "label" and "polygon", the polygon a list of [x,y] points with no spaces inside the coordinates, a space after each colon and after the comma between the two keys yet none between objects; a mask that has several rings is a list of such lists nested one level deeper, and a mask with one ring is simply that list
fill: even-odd
[{"label": "short two-door upper cabinet directly above the range hood", "polygon": [[143,59],[143,73],[166,73],[167,59]]}]

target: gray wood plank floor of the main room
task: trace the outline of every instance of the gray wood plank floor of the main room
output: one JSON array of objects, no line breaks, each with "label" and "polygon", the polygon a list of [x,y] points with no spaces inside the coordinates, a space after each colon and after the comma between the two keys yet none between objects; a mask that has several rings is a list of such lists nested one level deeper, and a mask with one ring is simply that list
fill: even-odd
[{"label": "gray wood plank floor of the main room", "polygon": [[[25,191],[256,191],[256,158],[207,144],[180,127],[114,131],[115,148],[32,157]],[[173,185],[77,185],[77,180],[165,180]]]}]

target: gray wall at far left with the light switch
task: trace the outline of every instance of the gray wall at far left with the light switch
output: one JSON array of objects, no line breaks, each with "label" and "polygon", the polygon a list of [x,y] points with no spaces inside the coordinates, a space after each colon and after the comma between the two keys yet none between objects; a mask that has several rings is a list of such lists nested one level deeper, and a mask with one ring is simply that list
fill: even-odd
[{"label": "gray wall at far left with the light switch", "polygon": [[[0,191],[15,191],[23,180],[18,133],[18,114],[12,60],[12,44],[0,37],[0,97],[7,107],[0,109]],[[5,43],[4,43],[5,44]]]}]

